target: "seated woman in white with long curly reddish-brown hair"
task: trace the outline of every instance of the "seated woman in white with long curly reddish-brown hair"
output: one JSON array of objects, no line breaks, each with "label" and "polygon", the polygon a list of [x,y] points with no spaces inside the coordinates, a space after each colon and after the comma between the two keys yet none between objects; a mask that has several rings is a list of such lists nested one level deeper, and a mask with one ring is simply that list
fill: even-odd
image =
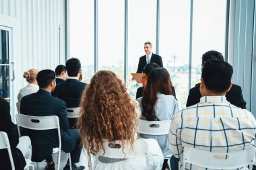
[{"label": "seated woman in white with long curly reddish-brown hair", "polygon": [[[98,71],[86,87],[80,105],[77,121],[82,144],[89,155],[96,154],[102,148],[103,139],[128,140],[133,143],[137,131],[139,110],[126,91],[121,79],[112,71]],[[163,156],[156,140],[148,141],[150,147],[150,169],[162,167]],[[96,157],[94,169],[146,169],[143,157],[133,159],[110,159]],[[145,164],[143,164],[145,163]]]}]

